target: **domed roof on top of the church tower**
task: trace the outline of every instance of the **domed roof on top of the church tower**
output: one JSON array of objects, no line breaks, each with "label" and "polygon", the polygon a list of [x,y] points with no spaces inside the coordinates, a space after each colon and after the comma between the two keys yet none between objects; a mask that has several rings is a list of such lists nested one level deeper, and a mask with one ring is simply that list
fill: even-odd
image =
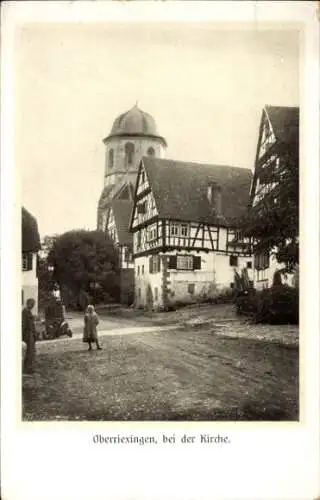
[{"label": "domed roof on top of the church tower", "polygon": [[111,137],[121,136],[153,137],[161,139],[166,145],[165,139],[158,134],[154,118],[149,113],[138,108],[137,104],[115,119],[111,132],[104,141]]}]

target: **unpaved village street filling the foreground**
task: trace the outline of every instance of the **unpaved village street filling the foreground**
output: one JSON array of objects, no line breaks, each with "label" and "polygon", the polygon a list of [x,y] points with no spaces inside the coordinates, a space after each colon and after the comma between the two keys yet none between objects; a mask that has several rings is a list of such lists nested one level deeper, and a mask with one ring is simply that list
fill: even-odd
[{"label": "unpaved village street filling the foreground", "polygon": [[249,325],[229,306],[100,315],[102,351],[37,344],[23,377],[26,420],[297,420],[298,329]]}]

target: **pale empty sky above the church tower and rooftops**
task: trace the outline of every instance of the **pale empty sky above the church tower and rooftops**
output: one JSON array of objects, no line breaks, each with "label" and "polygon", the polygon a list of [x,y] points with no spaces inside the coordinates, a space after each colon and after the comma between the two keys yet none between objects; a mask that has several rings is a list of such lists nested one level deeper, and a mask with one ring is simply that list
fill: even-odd
[{"label": "pale empty sky above the church tower and rooftops", "polygon": [[40,236],[96,228],[102,139],[136,101],[168,158],[253,169],[263,106],[299,105],[298,41],[211,22],[19,28],[15,165]]}]

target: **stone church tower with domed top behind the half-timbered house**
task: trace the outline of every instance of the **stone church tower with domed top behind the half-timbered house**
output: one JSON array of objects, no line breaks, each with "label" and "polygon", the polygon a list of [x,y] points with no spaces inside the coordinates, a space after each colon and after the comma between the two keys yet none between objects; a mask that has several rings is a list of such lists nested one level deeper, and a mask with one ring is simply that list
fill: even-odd
[{"label": "stone church tower with domed top behind the half-timbered house", "polygon": [[154,118],[137,104],[115,119],[103,143],[104,187],[98,204],[97,226],[105,231],[111,203],[119,198],[132,201],[141,157],[163,158],[167,143],[158,134]]}]

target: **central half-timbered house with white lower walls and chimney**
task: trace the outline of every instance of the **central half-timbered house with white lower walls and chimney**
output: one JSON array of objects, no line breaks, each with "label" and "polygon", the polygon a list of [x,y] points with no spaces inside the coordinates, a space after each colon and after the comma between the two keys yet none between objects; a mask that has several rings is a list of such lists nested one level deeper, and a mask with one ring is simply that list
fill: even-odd
[{"label": "central half-timbered house with white lower walls and chimney", "polygon": [[251,171],[143,157],[130,230],[135,304],[162,308],[232,287],[250,276],[251,242],[237,237]]}]

